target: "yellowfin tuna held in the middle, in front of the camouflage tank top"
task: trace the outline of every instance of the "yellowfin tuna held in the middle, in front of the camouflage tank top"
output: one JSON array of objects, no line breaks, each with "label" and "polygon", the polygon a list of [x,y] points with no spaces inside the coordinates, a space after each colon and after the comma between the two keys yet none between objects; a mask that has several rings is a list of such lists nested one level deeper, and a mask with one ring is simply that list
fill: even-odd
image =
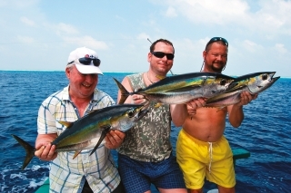
[{"label": "yellowfin tuna held in the middle, in front of the camouflage tank top", "polygon": [[166,77],[136,92],[127,92],[120,82],[115,82],[121,92],[118,103],[124,103],[128,95],[141,94],[148,101],[181,104],[225,92],[234,80],[233,77],[216,72],[193,72]]}]

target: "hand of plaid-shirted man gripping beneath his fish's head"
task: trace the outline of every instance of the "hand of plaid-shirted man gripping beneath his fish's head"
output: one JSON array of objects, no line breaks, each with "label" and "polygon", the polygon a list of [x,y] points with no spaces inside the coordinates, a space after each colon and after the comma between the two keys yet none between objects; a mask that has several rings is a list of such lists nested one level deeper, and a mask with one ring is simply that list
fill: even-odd
[{"label": "hand of plaid-shirted man gripping beneath his fish's head", "polygon": [[116,149],[125,139],[125,133],[120,130],[110,130],[105,137],[105,147]]}]

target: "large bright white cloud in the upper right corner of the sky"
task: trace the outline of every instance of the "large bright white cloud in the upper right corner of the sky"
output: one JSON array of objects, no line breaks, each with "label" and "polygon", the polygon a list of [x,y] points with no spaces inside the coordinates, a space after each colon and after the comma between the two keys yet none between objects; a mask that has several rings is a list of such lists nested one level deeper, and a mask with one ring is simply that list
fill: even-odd
[{"label": "large bright white cloud in the upper right corner of the sky", "polygon": [[258,7],[254,10],[245,0],[166,0],[160,4],[175,7],[176,14],[195,24],[239,25],[258,34],[291,34],[291,1],[260,0],[252,2]]}]

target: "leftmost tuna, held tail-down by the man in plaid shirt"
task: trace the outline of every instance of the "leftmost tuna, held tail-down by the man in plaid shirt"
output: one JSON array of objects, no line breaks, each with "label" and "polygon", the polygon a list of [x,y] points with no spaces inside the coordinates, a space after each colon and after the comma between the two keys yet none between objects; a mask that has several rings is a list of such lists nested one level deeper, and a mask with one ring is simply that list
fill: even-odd
[{"label": "leftmost tuna, held tail-down by the man in plaid shirt", "polygon": [[[52,145],[55,145],[55,151],[75,151],[75,156],[81,150],[94,148],[91,155],[104,140],[107,132],[130,130],[136,121],[146,115],[147,111],[140,104],[113,105],[91,111],[75,122],[61,122],[67,128],[52,141]],[[22,167],[25,169],[35,156],[35,148],[16,135],[12,134],[12,136],[25,148],[26,157]]]}]

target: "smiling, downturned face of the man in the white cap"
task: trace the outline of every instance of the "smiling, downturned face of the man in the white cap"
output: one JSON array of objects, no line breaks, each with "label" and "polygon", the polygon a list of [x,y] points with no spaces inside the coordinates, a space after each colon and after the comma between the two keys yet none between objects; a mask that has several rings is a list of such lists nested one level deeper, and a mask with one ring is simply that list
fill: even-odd
[{"label": "smiling, downturned face of the man in the white cap", "polygon": [[98,74],[83,74],[78,72],[75,65],[65,70],[70,82],[70,95],[77,98],[90,98],[98,82]]}]

